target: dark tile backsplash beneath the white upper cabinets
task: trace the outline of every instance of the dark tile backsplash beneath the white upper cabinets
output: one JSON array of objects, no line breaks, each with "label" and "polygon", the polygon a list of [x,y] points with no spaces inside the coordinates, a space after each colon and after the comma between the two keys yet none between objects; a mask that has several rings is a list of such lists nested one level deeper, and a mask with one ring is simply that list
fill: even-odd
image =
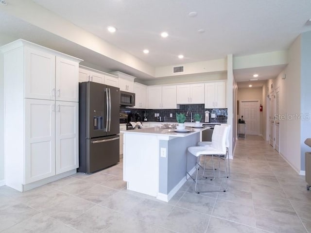
[{"label": "dark tile backsplash beneath the white upper cabinets", "polygon": [[[201,122],[205,122],[205,111],[209,111],[209,123],[226,123],[227,122],[227,109],[205,109],[204,104],[185,104],[179,105],[180,109],[130,109],[120,106],[120,112],[133,114],[138,113],[141,116],[143,121],[144,113],[148,114],[148,121],[158,121],[159,118],[155,117],[155,113],[158,113],[161,116],[161,121],[165,122],[176,122],[176,113],[184,113],[186,115],[187,111],[192,112],[192,118],[194,114],[202,115]],[[170,117],[170,114],[173,114],[173,117]],[[211,114],[215,114],[215,118],[211,118]],[[194,121],[194,120],[193,120]],[[190,122],[190,112],[187,116],[186,122]]]}]

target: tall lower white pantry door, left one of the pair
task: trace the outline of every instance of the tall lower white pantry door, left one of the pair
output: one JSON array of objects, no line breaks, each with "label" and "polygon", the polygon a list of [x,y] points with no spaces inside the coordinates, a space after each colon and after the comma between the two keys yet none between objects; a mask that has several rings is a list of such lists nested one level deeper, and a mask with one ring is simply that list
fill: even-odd
[{"label": "tall lower white pantry door, left one of the pair", "polygon": [[25,184],[55,175],[54,103],[25,99]]}]

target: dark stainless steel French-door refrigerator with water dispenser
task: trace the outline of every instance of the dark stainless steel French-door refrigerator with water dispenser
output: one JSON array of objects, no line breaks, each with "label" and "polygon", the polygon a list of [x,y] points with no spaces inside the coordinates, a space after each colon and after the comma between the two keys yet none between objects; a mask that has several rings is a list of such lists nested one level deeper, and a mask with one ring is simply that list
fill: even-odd
[{"label": "dark stainless steel French-door refrigerator with water dispenser", "polygon": [[79,168],[94,172],[120,162],[120,89],[79,83]]}]

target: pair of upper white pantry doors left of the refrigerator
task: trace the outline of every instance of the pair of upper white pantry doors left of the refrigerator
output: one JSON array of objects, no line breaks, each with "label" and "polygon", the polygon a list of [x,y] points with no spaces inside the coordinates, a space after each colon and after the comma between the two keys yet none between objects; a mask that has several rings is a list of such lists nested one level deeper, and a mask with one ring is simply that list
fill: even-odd
[{"label": "pair of upper white pantry doors left of the refrigerator", "polygon": [[79,101],[76,61],[25,47],[25,98]]}]

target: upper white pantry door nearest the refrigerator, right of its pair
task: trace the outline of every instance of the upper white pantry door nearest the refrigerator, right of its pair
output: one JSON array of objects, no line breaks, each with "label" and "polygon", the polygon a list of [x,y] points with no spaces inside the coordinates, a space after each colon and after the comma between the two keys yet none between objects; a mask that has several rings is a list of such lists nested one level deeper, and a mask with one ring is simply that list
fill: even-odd
[{"label": "upper white pantry door nearest the refrigerator, right of its pair", "polygon": [[56,100],[79,101],[79,64],[56,57]]}]

